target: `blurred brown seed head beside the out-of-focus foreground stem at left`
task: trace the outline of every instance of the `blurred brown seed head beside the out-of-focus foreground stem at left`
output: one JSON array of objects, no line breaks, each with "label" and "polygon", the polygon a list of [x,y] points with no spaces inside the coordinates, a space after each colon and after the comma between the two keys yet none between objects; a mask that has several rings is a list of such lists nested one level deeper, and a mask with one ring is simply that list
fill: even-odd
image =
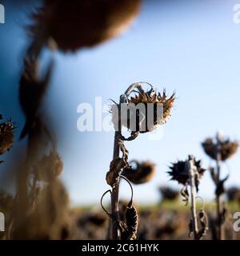
[{"label": "blurred brown seed head beside the out-of-focus foreground stem at left", "polygon": [[63,162],[61,157],[54,152],[43,155],[34,166],[34,174],[39,181],[51,182],[62,174]]}]

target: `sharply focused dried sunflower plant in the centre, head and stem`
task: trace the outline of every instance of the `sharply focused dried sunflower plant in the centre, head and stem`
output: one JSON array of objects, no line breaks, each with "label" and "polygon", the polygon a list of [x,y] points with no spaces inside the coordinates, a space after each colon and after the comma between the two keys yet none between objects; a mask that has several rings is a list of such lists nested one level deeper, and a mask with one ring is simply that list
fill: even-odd
[{"label": "sharply focused dried sunflower plant in the centre, head and stem", "polygon": [[[128,162],[129,152],[124,145],[125,141],[132,141],[138,137],[140,133],[150,132],[166,122],[170,117],[170,110],[174,104],[175,94],[170,98],[166,97],[166,91],[163,94],[156,92],[150,84],[150,90],[143,90],[143,82],[137,82],[129,86],[124,94],[120,96],[119,104],[111,107],[112,120],[115,128],[114,136],[114,157],[110,162],[110,170],[106,174],[106,182],[111,186],[111,210],[110,210],[110,238],[121,239],[122,228],[119,226],[119,211],[118,211],[118,190],[119,181],[122,170],[130,168]],[[130,95],[135,93],[134,97]],[[138,109],[141,104],[142,109]],[[150,104],[153,113],[148,113],[146,107]],[[160,109],[158,106],[162,106]],[[136,108],[137,107],[137,108]],[[126,115],[122,115],[122,111]],[[161,113],[162,110],[162,113]],[[160,113],[158,113],[158,111]],[[152,122],[149,122],[151,119]],[[125,138],[122,135],[122,126],[125,126],[130,131],[130,137]],[[120,150],[122,151],[122,158],[119,157]]]}]

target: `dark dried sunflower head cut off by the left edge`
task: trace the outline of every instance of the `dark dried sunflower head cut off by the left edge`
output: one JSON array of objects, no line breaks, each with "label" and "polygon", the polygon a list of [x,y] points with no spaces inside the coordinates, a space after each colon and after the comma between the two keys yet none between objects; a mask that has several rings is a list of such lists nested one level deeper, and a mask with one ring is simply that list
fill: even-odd
[{"label": "dark dried sunflower head cut off by the left edge", "polygon": [[10,121],[0,123],[0,154],[10,150],[14,143],[14,124]]}]

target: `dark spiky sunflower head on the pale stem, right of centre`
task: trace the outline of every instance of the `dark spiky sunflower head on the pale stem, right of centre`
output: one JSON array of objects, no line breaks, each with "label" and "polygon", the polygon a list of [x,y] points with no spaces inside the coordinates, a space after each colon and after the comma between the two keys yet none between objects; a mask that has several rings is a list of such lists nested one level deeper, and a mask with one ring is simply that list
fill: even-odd
[{"label": "dark spiky sunflower head on the pale stem, right of centre", "polygon": [[[198,190],[198,184],[200,178],[202,178],[202,175],[206,171],[202,168],[202,162],[199,160],[197,161],[196,158],[193,158],[194,161],[194,176],[195,176],[195,185]],[[175,180],[178,183],[186,186],[189,185],[190,182],[190,174],[189,174],[189,161],[178,161],[173,163],[172,166],[170,166],[170,171],[167,172],[171,176],[171,180]]]}]

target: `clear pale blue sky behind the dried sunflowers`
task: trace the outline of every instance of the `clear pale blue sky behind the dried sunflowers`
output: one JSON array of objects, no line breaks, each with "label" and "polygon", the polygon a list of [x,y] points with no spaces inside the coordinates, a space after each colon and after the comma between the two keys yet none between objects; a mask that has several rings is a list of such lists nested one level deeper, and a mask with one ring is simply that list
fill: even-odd
[{"label": "clear pale blue sky behind the dried sunflowers", "polygon": [[[194,154],[209,166],[200,142],[222,130],[240,138],[240,24],[233,22],[233,6],[240,1],[145,1],[142,12],[125,34],[77,54],[55,53],[56,66],[46,96],[47,115],[58,130],[58,148],[64,160],[62,181],[74,204],[99,201],[108,189],[106,171],[112,157],[114,134],[77,130],[77,106],[94,104],[101,96],[118,100],[132,82],[147,81],[171,94],[177,90],[172,117],[162,126],[163,137],[150,141],[142,134],[127,142],[130,158],[157,165],[152,182],[134,186],[136,202],[156,202],[158,186],[170,184],[170,162]],[[18,79],[26,35],[26,6],[6,6],[6,24],[0,25],[0,111],[21,128]],[[14,155],[24,143],[16,143]],[[23,145],[24,146],[24,145]],[[223,166],[230,171],[227,186],[240,186],[239,153]],[[199,194],[212,199],[210,175],[202,179]],[[129,188],[121,188],[128,198]]]}]

